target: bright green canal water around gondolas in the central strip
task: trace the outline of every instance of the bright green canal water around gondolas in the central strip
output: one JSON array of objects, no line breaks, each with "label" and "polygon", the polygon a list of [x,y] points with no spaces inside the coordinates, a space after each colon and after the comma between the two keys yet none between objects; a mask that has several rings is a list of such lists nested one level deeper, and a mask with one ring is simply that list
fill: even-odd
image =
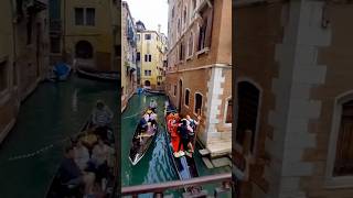
[{"label": "bright green canal water around gondolas in the central strip", "polygon": [[[128,155],[131,139],[136,130],[136,125],[139,122],[141,111],[149,105],[150,100],[154,99],[158,102],[158,118],[160,124],[159,133],[157,134],[154,143],[146,153],[143,158],[135,166],[130,163]],[[145,96],[135,95],[128,105],[128,108],[122,113],[121,121],[121,186],[133,186],[141,184],[158,184],[168,180],[176,180],[178,174],[173,168],[172,160],[168,155],[165,143],[165,131],[163,121],[163,107],[165,101],[164,96]],[[206,176],[220,173],[229,173],[231,167],[221,167],[208,169],[202,162],[201,156],[196,152],[195,161],[200,176]],[[203,186],[210,194],[213,194],[215,185]],[[173,197],[180,197],[181,191],[167,191]],[[141,195],[140,197],[152,197],[149,194]],[[223,197],[231,197],[231,194]]]}]

